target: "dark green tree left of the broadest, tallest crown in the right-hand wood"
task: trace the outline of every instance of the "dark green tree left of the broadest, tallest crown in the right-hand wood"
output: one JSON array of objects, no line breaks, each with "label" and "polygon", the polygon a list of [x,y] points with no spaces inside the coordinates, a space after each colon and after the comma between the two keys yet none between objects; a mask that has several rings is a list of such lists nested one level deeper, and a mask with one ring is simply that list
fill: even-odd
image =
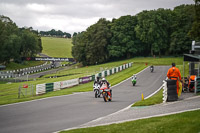
[{"label": "dark green tree left of the broadest, tallest crown in the right-hand wood", "polygon": [[137,19],[135,16],[122,16],[113,19],[111,24],[111,45],[108,46],[111,58],[130,58],[142,50],[140,40],[136,38],[135,26]]}]

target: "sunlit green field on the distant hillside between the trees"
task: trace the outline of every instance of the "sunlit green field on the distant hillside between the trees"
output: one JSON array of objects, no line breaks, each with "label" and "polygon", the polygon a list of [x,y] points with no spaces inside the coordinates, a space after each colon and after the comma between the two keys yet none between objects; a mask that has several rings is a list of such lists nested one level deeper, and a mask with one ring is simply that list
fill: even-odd
[{"label": "sunlit green field on the distant hillside between the trees", "polygon": [[42,53],[50,57],[71,58],[71,39],[42,37]]}]

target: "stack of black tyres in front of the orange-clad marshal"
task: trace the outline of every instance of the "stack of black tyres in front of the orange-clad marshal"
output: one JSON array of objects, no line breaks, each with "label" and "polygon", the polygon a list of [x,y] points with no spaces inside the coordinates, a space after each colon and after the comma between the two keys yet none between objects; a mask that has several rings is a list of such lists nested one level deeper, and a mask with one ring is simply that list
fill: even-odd
[{"label": "stack of black tyres in front of the orange-clad marshal", "polygon": [[176,80],[167,80],[167,101],[172,102],[177,100]]}]

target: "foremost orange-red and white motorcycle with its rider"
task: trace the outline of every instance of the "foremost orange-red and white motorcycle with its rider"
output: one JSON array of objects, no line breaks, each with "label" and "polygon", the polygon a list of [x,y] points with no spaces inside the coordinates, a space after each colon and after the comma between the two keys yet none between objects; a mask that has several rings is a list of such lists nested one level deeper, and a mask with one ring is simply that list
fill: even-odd
[{"label": "foremost orange-red and white motorcycle with its rider", "polygon": [[107,84],[103,84],[100,89],[101,94],[103,95],[103,99],[105,102],[112,100],[111,89],[109,89]]}]

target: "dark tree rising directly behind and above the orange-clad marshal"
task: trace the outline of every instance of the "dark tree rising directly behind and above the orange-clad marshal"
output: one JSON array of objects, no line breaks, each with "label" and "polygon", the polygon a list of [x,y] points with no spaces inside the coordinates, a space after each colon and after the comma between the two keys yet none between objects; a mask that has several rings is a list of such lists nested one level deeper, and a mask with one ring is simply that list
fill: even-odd
[{"label": "dark tree rising directly behind and above the orange-clad marshal", "polygon": [[170,41],[170,53],[172,55],[182,55],[188,53],[191,49],[192,40],[188,36],[188,32],[192,27],[193,18],[193,5],[181,5],[174,8]]}]

